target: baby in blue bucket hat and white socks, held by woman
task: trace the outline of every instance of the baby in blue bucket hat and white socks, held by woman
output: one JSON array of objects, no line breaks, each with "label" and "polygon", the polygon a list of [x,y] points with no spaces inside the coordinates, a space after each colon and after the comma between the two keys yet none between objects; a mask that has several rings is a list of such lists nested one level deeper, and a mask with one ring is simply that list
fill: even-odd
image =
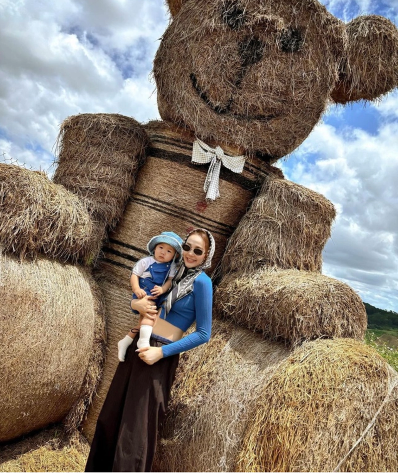
[{"label": "baby in blue bucket hat and white socks, held by woman", "polygon": [[[182,255],[182,238],[174,232],[162,232],[154,236],[147,244],[150,256],[137,261],[130,273],[130,283],[133,290],[132,299],[142,299],[145,296],[157,298],[165,294],[171,287],[171,280],[177,272],[177,264]],[[135,314],[136,311],[131,309]],[[138,348],[149,347],[149,339],[155,321],[146,317],[140,322]],[[124,361],[127,348],[132,344],[131,332],[117,344],[118,358]]]}]

